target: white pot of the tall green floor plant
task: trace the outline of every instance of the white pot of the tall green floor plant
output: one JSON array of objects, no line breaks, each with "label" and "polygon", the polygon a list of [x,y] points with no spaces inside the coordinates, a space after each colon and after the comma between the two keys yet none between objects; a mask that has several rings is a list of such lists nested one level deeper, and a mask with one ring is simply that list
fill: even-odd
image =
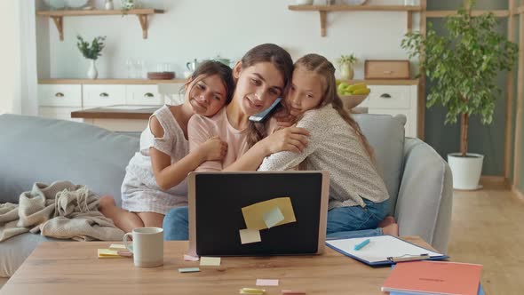
[{"label": "white pot of the tall green floor plant", "polygon": [[484,155],[467,153],[448,154],[449,168],[453,174],[453,188],[473,190],[478,189]]}]

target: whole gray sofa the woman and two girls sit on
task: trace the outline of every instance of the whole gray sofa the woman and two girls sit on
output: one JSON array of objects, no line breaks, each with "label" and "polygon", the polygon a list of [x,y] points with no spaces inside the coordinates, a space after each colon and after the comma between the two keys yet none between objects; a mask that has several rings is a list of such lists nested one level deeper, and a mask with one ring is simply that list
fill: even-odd
[{"label": "whole gray sofa the woman and two girls sit on", "polygon": [[[452,184],[449,166],[421,140],[404,138],[402,120],[358,115],[375,148],[401,235],[419,235],[447,251]],[[0,203],[18,203],[33,183],[70,180],[120,204],[125,166],[139,134],[108,132],[88,124],[34,116],[0,116]],[[50,240],[24,234],[0,243],[0,276],[11,276],[36,247]]]}]

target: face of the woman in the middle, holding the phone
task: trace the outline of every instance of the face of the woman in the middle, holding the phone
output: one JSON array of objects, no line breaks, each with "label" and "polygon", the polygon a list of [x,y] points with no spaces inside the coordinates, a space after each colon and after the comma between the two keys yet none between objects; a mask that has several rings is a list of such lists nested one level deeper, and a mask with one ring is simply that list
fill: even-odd
[{"label": "face of the woman in the middle, holding the phone", "polygon": [[258,62],[248,68],[237,63],[233,70],[237,79],[234,90],[234,103],[242,113],[255,115],[282,96],[284,80],[281,72],[271,62]]}]

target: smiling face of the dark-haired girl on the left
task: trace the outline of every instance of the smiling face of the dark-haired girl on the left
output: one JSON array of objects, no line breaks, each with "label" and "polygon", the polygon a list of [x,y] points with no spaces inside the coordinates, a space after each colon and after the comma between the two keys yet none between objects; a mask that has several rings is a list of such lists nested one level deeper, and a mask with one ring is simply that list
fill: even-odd
[{"label": "smiling face of the dark-haired girl on the left", "polygon": [[188,88],[187,102],[195,114],[214,116],[226,104],[226,86],[218,75],[196,77]]}]

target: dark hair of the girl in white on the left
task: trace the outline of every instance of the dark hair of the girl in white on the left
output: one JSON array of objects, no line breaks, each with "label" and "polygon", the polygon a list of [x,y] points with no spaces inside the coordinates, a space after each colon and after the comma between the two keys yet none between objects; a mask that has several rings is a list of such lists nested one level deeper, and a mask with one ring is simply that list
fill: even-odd
[{"label": "dark hair of the girl in white on the left", "polygon": [[233,70],[219,61],[206,60],[202,62],[202,64],[195,69],[195,72],[189,76],[187,82],[184,84],[184,89],[187,90],[189,84],[194,81],[196,83],[205,77],[213,75],[217,75],[220,80],[222,80],[224,87],[226,87],[226,104],[228,104],[233,99],[235,84],[233,79]]}]

